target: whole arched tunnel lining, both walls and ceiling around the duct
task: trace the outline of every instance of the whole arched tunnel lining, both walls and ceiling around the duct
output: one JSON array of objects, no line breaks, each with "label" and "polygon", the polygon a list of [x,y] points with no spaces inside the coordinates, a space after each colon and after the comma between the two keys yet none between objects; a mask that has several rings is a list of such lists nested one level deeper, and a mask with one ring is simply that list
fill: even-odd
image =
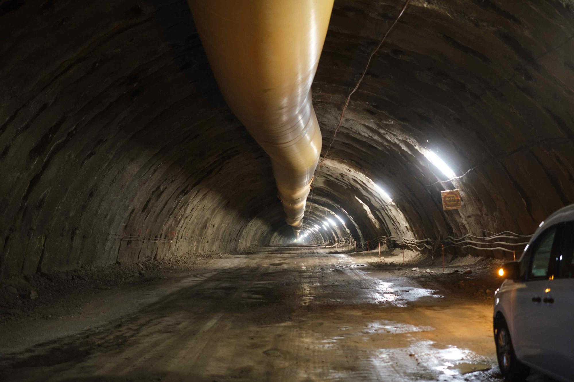
[{"label": "whole arched tunnel lining, both walls and ceiling around the duct", "polygon": [[[342,105],[402,1],[336,0],[313,104]],[[2,276],[281,244],[269,158],[230,112],[185,1],[0,3]],[[532,233],[574,201],[570,1],[412,1],[321,166],[321,236]],[[451,182],[421,153],[464,176]],[[382,197],[374,185],[386,190]],[[442,211],[440,190],[463,208]]]}]

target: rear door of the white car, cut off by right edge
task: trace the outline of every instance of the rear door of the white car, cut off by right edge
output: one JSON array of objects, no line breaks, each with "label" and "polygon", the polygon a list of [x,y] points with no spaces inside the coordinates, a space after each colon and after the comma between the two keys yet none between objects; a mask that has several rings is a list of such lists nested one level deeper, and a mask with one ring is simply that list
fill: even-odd
[{"label": "rear door of the white car, cut off by right edge", "polygon": [[560,227],[562,238],[554,255],[554,277],[550,275],[542,297],[548,353],[545,369],[555,376],[574,379],[574,222]]}]

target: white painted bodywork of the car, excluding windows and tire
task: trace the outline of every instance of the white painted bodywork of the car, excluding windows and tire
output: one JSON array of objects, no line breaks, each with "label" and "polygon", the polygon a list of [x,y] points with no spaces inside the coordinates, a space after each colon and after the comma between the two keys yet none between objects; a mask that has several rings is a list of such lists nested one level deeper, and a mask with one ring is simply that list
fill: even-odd
[{"label": "white painted bodywork of the car, excluding windows and tire", "polygon": [[[532,247],[542,232],[554,226],[560,227],[559,239],[552,247],[548,277],[529,280],[530,256],[536,252]],[[504,280],[494,298],[494,320],[498,315],[505,318],[518,360],[561,381],[574,381],[574,278],[555,278],[554,274],[562,252],[574,249],[573,228],[574,205],[542,222],[519,259],[526,262],[526,274]]]}]

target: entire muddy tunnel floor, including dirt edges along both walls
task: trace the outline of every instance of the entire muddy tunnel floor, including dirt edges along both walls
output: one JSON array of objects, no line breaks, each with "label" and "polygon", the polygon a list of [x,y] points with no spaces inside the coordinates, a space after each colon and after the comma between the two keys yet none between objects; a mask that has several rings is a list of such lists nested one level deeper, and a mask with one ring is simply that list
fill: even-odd
[{"label": "entire muddy tunnel floor, including dirt edges along both walls", "polygon": [[12,279],[0,380],[500,380],[499,262],[443,273],[382,255],[267,248]]}]

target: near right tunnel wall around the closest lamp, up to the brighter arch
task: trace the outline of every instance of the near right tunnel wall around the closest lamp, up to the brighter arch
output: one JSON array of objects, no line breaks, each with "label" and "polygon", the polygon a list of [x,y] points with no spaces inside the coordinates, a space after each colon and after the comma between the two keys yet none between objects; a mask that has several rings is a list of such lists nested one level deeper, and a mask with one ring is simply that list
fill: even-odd
[{"label": "near right tunnel wall around the closest lamp, up to the brighter arch", "polygon": [[[336,3],[313,87],[325,141],[402,4]],[[533,233],[574,202],[572,16],[569,1],[411,2],[329,156],[385,187],[420,239]],[[445,177],[422,148],[465,175],[435,184]],[[440,191],[454,188],[463,208],[442,211]]]}]

